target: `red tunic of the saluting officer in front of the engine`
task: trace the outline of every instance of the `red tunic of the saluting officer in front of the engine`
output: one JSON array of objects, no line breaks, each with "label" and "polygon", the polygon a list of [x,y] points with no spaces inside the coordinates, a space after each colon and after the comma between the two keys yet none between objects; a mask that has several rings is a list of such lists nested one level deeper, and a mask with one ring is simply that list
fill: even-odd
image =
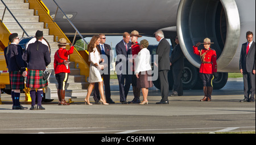
[{"label": "red tunic of the saluting officer in front of the engine", "polygon": [[196,46],[193,46],[193,49],[194,53],[196,55],[199,55],[201,58],[201,65],[199,69],[200,73],[212,74],[214,72],[217,72],[217,55],[214,49],[201,49],[201,51],[199,51]]}]

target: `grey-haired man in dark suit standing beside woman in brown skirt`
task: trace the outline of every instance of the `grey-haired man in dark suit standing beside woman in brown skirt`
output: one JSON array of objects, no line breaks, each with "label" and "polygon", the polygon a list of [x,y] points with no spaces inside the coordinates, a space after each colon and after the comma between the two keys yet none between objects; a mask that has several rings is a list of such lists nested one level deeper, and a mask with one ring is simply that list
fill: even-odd
[{"label": "grey-haired man in dark suit standing beside woman in brown skirt", "polygon": [[162,100],[156,104],[168,104],[169,82],[168,71],[170,70],[170,44],[164,38],[163,31],[159,30],[155,32],[155,38],[159,42],[158,48],[156,48],[156,55],[158,55],[158,63],[155,65],[158,67],[158,77],[160,81],[160,90],[162,94]]}]

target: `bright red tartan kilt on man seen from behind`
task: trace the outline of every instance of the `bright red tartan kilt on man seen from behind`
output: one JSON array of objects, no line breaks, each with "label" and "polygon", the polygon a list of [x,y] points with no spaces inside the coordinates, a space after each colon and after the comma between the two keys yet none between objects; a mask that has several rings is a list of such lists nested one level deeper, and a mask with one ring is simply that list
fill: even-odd
[{"label": "bright red tartan kilt on man seen from behind", "polygon": [[48,81],[43,79],[44,70],[28,69],[27,71],[27,88],[45,88],[48,86]]}]

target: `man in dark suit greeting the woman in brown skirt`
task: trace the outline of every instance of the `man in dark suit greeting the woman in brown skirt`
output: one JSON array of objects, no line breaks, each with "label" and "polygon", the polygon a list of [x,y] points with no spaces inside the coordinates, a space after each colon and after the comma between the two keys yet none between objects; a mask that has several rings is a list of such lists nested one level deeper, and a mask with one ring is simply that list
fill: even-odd
[{"label": "man in dark suit greeting the woman in brown skirt", "polygon": [[128,66],[128,55],[131,55],[131,42],[130,34],[128,32],[123,33],[123,40],[115,46],[117,52],[117,60],[115,61],[115,72],[117,73],[117,79],[119,84],[120,102],[126,104],[126,97],[131,85],[131,74],[133,72]]}]

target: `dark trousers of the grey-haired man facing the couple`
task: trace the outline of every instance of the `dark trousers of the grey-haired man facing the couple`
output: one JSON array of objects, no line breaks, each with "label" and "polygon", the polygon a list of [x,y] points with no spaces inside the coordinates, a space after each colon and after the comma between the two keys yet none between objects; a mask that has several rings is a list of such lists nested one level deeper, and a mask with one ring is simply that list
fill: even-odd
[{"label": "dark trousers of the grey-haired man facing the couple", "polygon": [[169,70],[158,71],[158,77],[160,81],[160,90],[162,94],[161,102],[168,101],[168,93],[169,93],[168,71]]}]

